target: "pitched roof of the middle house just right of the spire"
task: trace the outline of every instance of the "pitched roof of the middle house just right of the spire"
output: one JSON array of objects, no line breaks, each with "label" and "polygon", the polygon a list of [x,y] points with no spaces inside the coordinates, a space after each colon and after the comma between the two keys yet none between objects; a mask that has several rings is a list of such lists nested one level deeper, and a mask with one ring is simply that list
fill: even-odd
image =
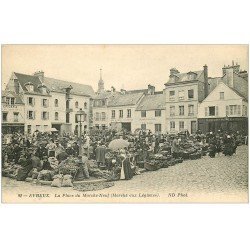
[{"label": "pitched roof of the middle house just right of the spire", "polygon": [[118,107],[118,106],[129,106],[135,105],[143,96],[142,92],[139,93],[125,93],[115,95],[109,98],[108,106],[109,107]]}]

